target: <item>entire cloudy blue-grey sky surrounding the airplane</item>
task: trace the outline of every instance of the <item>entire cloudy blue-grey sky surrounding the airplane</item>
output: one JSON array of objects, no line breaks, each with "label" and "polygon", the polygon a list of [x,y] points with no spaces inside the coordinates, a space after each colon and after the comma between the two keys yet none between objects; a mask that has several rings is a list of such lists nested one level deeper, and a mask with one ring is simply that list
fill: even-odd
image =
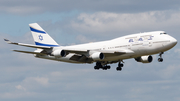
[{"label": "entire cloudy blue-grey sky surrounding the airplane", "polygon": [[0,100],[2,101],[179,101],[180,46],[153,55],[150,64],[124,60],[107,71],[95,64],[69,64],[11,50],[3,38],[34,44],[37,22],[60,45],[166,31],[180,40],[179,0],[0,0]]}]

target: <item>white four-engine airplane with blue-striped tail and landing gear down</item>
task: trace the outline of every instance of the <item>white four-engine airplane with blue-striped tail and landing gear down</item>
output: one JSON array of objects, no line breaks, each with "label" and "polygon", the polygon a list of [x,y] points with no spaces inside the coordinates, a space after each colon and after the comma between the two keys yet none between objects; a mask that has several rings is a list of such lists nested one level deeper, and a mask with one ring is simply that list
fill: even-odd
[{"label": "white four-engine airplane with blue-striped tail and landing gear down", "polygon": [[108,41],[93,42],[71,46],[60,46],[37,23],[29,24],[35,45],[11,42],[8,44],[36,48],[34,52],[13,50],[15,52],[34,54],[36,58],[49,59],[77,64],[92,64],[95,70],[110,69],[109,64],[118,63],[117,71],[124,66],[123,60],[134,58],[137,62],[151,63],[152,55],[159,54],[158,61],[163,62],[162,55],[177,44],[177,40],[165,31],[153,31],[126,35]]}]

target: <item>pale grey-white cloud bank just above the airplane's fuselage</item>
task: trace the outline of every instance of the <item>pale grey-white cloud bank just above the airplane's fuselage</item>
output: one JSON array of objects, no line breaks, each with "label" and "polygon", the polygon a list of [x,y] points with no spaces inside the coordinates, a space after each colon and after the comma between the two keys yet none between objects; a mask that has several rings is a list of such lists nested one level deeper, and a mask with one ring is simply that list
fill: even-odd
[{"label": "pale grey-white cloud bank just above the airplane's fuselage", "polygon": [[[71,28],[84,35],[99,35],[99,37],[120,37],[122,35],[164,30],[178,32],[180,20],[179,11],[152,11],[145,13],[81,13],[72,20]],[[170,33],[171,35],[175,33]],[[112,37],[113,38],[113,37]]]}]

